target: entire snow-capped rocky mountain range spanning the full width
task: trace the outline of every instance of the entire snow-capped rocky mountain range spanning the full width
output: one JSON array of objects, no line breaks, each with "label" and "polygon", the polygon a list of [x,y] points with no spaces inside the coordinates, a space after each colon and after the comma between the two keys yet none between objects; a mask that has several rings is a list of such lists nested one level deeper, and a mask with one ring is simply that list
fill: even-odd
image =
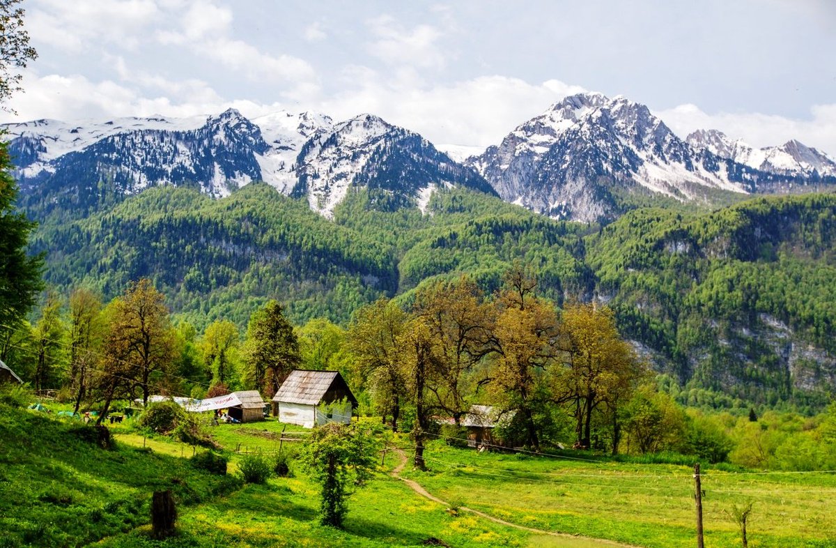
[{"label": "entire snow-capped rocky mountain range spanning the full width", "polygon": [[158,185],[223,197],[261,180],[326,218],[351,188],[373,189],[380,207],[425,211],[434,189],[464,186],[551,218],[599,222],[619,217],[635,194],[711,202],[718,192],[836,184],[836,162],[798,141],[756,150],[711,130],[683,140],[647,106],[595,93],[559,101],[461,162],[370,114],[339,123],[284,111],[248,120],[231,109],[5,128],[24,196],[87,207]]}]

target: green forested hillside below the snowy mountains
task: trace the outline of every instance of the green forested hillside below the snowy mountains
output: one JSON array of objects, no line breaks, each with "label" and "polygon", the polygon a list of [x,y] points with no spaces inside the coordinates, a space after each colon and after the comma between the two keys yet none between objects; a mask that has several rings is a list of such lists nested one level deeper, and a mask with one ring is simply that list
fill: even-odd
[{"label": "green forested hillside below the snowy mountains", "polygon": [[[212,200],[156,187],[89,216],[28,204],[46,279],[109,300],[148,276],[198,329],[243,326],[269,299],[297,325],[345,325],[380,296],[468,273],[489,293],[514,264],[558,304],[599,299],[682,401],[824,402],[836,386],[836,196],[758,198],[713,213],[642,208],[606,227],[558,222],[461,188],[426,213],[354,190],[329,221],[263,184]],[[685,392],[679,393],[680,390]],[[718,396],[724,392],[729,398]]]}]

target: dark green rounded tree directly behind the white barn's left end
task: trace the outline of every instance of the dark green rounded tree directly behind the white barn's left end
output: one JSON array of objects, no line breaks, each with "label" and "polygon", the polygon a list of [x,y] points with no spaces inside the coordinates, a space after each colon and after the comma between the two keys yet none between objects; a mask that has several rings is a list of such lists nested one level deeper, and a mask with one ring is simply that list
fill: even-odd
[{"label": "dark green rounded tree directly behind the white barn's left end", "polygon": [[247,384],[268,397],[302,361],[293,325],[284,317],[278,301],[271,300],[252,314],[244,354]]}]

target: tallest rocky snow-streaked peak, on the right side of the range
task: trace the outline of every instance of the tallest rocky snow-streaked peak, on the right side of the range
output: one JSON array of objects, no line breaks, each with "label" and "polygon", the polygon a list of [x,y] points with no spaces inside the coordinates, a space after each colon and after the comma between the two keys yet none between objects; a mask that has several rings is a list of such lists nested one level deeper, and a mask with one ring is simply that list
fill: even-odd
[{"label": "tallest rocky snow-streaked peak, on the right side of the range", "polygon": [[636,192],[704,202],[717,192],[769,192],[801,177],[695,148],[645,105],[594,93],[558,102],[468,163],[503,199],[584,222],[618,217],[630,208],[623,197]]}]

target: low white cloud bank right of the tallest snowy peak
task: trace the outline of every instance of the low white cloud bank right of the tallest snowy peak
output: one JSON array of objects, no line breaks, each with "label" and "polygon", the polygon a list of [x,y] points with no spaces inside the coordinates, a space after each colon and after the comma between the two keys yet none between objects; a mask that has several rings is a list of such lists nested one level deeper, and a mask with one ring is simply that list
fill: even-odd
[{"label": "low white cloud bank right of the tallest snowy peak", "polygon": [[708,114],[690,104],[654,114],[683,138],[691,131],[714,129],[756,147],[776,146],[798,139],[836,158],[836,104],[814,105],[806,120],[758,112]]}]

